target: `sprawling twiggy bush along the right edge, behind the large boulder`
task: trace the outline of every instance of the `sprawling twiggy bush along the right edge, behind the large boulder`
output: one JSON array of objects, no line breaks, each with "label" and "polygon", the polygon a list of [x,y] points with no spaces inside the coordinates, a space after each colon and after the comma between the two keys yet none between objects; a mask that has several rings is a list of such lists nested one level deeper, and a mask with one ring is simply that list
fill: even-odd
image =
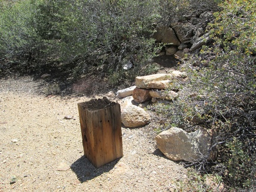
[{"label": "sprawling twiggy bush along the right edge, behind the large boulder", "polygon": [[220,9],[207,28],[212,44],[180,66],[189,77],[180,98],[155,108],[188,131],[198,124],[215,128],[219,158],[200,171],[222,175],[236,190],[255,190],[256,10],[253,1],[239,0],[224,1]]}]

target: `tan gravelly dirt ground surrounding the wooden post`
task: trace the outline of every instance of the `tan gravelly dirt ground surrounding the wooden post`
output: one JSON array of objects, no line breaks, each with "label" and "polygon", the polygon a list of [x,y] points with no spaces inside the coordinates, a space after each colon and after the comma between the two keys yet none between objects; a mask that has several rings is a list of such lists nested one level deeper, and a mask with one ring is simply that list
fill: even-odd
[{"label": "tan gravelly dirt ground surrounding the wooden post", "polygon": [[156,148],[151,126],[122,127],[124,156],[95,168],[77,107],[92,97],[46,97],[44,88],[43,79],[0,79],[0,191],[173,191],[187,178]]}]

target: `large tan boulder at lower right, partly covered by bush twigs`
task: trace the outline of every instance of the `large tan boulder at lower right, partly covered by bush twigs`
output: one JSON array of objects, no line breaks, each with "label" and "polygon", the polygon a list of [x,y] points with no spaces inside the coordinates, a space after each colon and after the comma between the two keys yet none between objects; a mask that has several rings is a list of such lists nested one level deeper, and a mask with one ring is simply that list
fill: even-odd
[{"label": "large tan boulder at lower right, partly covered by bush twigs", "polygon": [[215,161],[217,149],[209,152],[216,133],[213,130],[200,128],[193,133],[172,127],[155,137],[156,145],[167,158],[174,161],[195,161],[206,157],[208,161]]}]

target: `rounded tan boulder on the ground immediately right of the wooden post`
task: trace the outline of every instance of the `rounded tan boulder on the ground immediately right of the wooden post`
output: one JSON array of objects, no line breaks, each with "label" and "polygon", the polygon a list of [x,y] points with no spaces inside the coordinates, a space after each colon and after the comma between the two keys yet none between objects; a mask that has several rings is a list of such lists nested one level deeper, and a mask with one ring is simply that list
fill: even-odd
[{"label": "rounded tan boulder on the ground immediately right of the wooden post", "polygon": [[129,105],[121,111],[121,122],[126,127],[138,127],[147,124],[150,116],[140,107]]}]

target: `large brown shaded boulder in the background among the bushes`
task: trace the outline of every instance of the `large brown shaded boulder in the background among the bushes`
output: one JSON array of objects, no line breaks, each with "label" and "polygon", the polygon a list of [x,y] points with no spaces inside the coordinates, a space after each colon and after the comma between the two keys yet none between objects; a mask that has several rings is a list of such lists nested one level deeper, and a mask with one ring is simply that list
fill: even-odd
[{"label": "large brown shaded boulder in the background among the bushes", "polygon": [[166,26],[158,28],[156,33],[153,34],[153,39],[155,39],[158,42],[168,43],[174,46],[179,46],[181,44],[178,38],[176,37],[174,30]]}]

